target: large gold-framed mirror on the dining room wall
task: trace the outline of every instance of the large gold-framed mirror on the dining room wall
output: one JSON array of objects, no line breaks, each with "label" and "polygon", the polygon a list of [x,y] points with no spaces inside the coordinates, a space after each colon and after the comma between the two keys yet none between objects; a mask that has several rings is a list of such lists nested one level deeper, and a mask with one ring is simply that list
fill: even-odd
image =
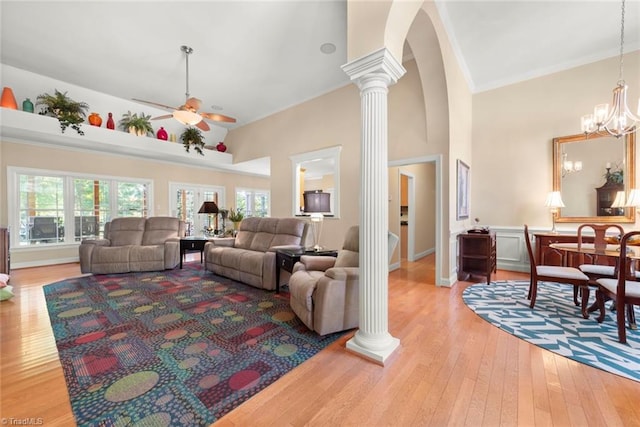
[{"label": "large gold-framed mirror on the dining room wall", "polygon": [[553,191],[560,191],[565,205],[556,221],[635,222],[635,208],[614,203],[635,188],[635,163],[635,132],[554,138]]}]

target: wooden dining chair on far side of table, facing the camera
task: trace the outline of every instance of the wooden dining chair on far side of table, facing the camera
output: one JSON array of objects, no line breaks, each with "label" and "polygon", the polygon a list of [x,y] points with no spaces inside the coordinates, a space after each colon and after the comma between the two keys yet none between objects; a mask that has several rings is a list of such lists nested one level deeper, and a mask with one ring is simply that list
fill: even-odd
[{"label": "wooden dining chair on far side of table, facing the camera", "polygon": [[[584,244],[583,233],[585,229],[593,230],[593,245],[596,251],[604,251],[607,247],[607,237],[609,237],[607,236],[608,231],[615,230],[617,232],[615,237],[618,239],[624,234],[624,229],[618,224],[582,224],[578,227],[578,251],[580,250],[580,246]],[[593,255],[590,259],[591,262],[587,261],[588,260],[585,259],[585,254],[580,252],[578,255],[578,268],[584,274],[589,276],[589,283],[591,285],[597,286],[596,280],[598,279],[612,279],[617,277],[617,260],[615,265],[600,264],[598,255]]]}]

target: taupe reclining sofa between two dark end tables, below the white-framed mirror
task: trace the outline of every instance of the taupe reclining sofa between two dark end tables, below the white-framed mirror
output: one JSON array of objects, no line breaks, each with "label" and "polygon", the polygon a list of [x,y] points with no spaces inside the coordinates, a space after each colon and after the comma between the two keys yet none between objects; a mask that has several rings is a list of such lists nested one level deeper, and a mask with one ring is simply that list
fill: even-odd
[{"label": "taupe reclining sofa between two dark end tables, below the white-framed mirror", "polygon": [[260,289],[276,288],[276,249],[301,248],[308,223],[297,218],[245,218],[235,240],[205,246],[205,267]]}]

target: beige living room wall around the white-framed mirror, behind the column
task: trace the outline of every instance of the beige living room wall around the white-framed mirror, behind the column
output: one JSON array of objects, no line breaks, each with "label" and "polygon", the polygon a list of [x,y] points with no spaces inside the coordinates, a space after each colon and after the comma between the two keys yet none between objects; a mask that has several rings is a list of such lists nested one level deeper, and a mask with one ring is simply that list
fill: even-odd
[{"label": "beige living room wall around the white-framed mirror, behind the column", "polygon": [[[404,66],[407,74],[389,90],[389,152],[420,156],[428,151],[422,90],[415,61]],[[273,216],[291,216],[289,156],[341,145],[340,218],[325,220],[323,246],[341,247],[346,230],[359,224],[360,94],[355,85],[231,130],[225,141],[238,161],[271,156]]]}]

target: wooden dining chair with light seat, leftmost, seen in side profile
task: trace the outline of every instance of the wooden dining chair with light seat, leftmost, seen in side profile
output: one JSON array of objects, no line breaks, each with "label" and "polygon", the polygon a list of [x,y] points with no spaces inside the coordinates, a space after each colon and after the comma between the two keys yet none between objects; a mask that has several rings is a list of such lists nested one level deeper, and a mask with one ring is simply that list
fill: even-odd
[{"label": "wooden dining chair with light seat, leftmost, seen in side profile", "polygon": [[[574,303],[581,307],[582,317],[587,319],[589,313],[587,312],[587,302],[589,298],[589,277],[574,267],[558,267],[555,265],[538,265],[531,249],[531,238],[529,237],[529,227],[524,226],[524,240],[527,244],[527,252],[529,253],[529,265],[531,267],[531,281],[529,284],[528,298],[531,300],[529,307],[533,308],[536,304],[536,296],[538,295],[538,282],[556,282],[566,283],[573,285],[573,298]],[[577,302],[576,295],[578,290],[583,290],[581,293],[581,302]]]}]

